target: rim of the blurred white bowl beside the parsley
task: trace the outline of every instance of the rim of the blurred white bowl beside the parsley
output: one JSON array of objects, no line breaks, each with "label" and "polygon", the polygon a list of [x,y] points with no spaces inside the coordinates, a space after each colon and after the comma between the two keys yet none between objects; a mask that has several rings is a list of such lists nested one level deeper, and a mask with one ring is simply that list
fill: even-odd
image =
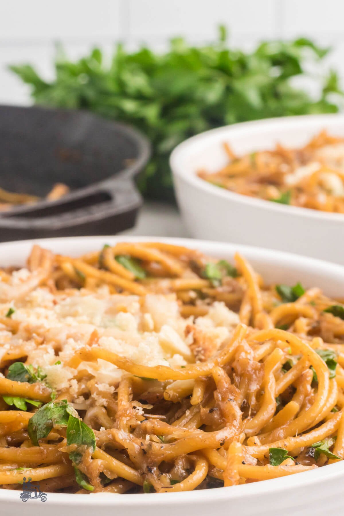
[{"label": "rim of the blurred white bowl beside the parsley", "polygon": [[[192,136],[187,140],[179,143],[177,147],[172,151],[170,156],[170,167],[176,175],[181,176],[188,183],[201,188],[209,193],[217,194],[220,197],[232,199],[235,201],[240,200],[243,204],[249,204],[253,206],[257,206],[260,208],[265,208],[271,212],[282,212],[289,213],[294,215],[299,215],[302,217],[315,218],[315,219],[326,219],[329,221],[343,221],[344,214],[342,213],[330,213],[330,212],[322,212],[317,209],[304,208],[302,206],[292,206],[279,204],[276,202],[271,202],[265,199],[258,199],[256,197],[249,197],[242,195],[241,193],[236,193],[230,190],[226,190],[225,188],[220,188],[219,186],[212,185],[208,183],[204,179],[199,178],[199,176],[194,173],[189,173],[184,167],[184,159],[186,155],[189,155],[190,152],[195,151],[197,147],[208,146],[212,142],[219,143],[219,136],[223,134],[223,140],[226,141],[231,137],[231,133],[237,131],[245,131],[255,128],[259,130],[261,128],[275,127],[276,132],[278,132],[281,127],[281,123],[284,128],[290,126],[294,126],[298,122],[309,122],[309,125],[312,125],[312,118],[323,119],[324,122],[328,120],[342,120],[344,123],[344,115],[301,115],[295,117],[279,117],[279,118],[267,118],[263,120],[254,120],[252,122],[241,122],[232,125],[225,125],[223,127],[218,127],[216,129],[211,129],[210,131],[205,131],[196,136]],[[261,149],[264,150],[264,149]]]}]

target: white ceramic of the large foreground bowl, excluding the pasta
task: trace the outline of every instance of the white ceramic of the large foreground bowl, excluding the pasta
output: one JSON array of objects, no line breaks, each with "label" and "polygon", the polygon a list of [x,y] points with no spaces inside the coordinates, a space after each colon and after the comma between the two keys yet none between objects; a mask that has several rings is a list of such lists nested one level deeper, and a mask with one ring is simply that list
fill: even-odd
[{"label": "white ceramic of the large foreground bowl, excluding the pasta", "polygon": [[[101,249],[103,244],[117,241],[152,241],[152,237],[76,237],[26,240],[0,244],[0,266],[23,265],[32,244],[37,243],[57,253],[79,255]],[[293,254],[257,249],[253,247],[221,244],[211,241],[182,238],[159,238],[176,245],[200,249],[209,255],[232,259],[235,251],[246,256],[263,276],[266,283],[284,282],[293,284],[302,281],[306,287],[319,286],[333,297],[342,297],[344,292],[344,268]],[[344,462],[320,467],[317,470],[299,473],[284,478],[264,480],[247,485],[161,494],[61,494],[48,493],[47,501],[30,499],[25,507],[20,500],[20,491],[0,490],[0,514],[13,516],[217,516],[228,514],[240,516],[293,516],[312,514],[320,516],[325,511],[344,509]]]}]

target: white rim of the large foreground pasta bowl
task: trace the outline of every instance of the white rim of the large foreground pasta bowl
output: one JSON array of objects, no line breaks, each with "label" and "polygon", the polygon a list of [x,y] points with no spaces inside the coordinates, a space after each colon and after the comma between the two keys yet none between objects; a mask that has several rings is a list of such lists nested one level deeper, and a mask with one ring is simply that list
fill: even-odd
[{"label": "white rim of the large foreground pasta bowl", "polygon": [[[152,238],[152,237],[130,237],[130,236],[93,236],[93,237],[69,237],[69,238],[46,238],[37,240],[23,240],[15,242],[7,242],[0,244],[0,265],[1,260],[6,255],[6,250],[9,254],[19,254],[19,261],[23,262],[32,245],[38,244],[47,249],[54,251],[58,248],[58,252],[62,252],[61,248],[65,247],[66,251],[75,249],[76,253],[87,252],[91,250],[100,249],[104,243],[116,243],[118,241],[164,241],[170,244],[181,245],[191,248],[200,249],[211,254],[209,249],[214,248],[214,255],[223,255],[223,257],[233,256],[235,251],[239,251],[247,255],[249,259],[257,259],[261,262],[267,261],[269,264],[282,264],[283,266],[299,265],[303,269],[309,268],[313,271],[319,271],[320,275],[325,275],[326,271],[331,270],[331,275],[335,273],[338,279],[344,284],[344,267],[336,264],[330,264],[321,260],[315,260],[305,256],[298,256],[291,253],[281,251],[273,251],[261,249],[250,246],[243,246],[237,244],[224,244],[214,241],[206,240],[192,240],[187,238]],[[84,245],[87,244],[87,245]],[[71,253],[73,254],[73,253]],[[344,461],[319,467],[316,470],[289,475],[281,478],[274,478],[271,480],[264,480],[261,482],[252,482],[246,485],[223,487],[218,489],[207,489],[199,491],[187,491],[181,493],[149,493],[149,494],[125,494],[121,496],[114,496],[111,493],[97,493],[90,495],[83,494],[68,494],[68,493],[48,493],[50,504],[55,507],[59,505],[70,507],[96,507],[102,505],[103,507],[131,507],[139,510],[143,506],[160,506],[164,504],[181,506],[184,509],[187,505],[193,506],[196,503],[203,501],[214,503],[223,501],[234,501],[236,499],[248,499],[254,496],[266,495],[281,492],[286,495],[293,488],[307,488],[308,486],[321,486],[323,481],[336,480],[340,476],[344,479]],[[0,503],[21,503],[19,499],[19,491],[17,490],[1,490],[0,489]],[[37,502],[38,501],[33,501]],[[30,502],[31,503],[31,502]],[[22,507],[22,506],[20,506]]]}]

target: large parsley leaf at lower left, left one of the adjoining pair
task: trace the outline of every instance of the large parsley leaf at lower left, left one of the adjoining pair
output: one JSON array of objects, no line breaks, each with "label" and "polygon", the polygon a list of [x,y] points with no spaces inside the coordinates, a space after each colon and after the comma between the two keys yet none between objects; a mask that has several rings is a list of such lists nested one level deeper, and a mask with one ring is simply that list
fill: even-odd
[{"label": "large parsley leaf at lower left, left one of the adjoining pair", "polygon": [[50,401],[43,405],[29,420],[27,431],[35,446],[39,440],[48,436],[52,428],[68,425],[69,416],[77,416],[77,412],[68,404],[67,399]]}]

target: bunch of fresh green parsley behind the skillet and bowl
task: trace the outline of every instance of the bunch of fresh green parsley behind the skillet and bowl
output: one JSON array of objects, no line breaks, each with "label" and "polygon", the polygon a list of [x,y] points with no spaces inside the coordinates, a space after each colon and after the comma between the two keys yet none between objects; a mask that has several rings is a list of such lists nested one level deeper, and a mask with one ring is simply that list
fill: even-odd
[{"label": "bunch of fresh green parsley behind the skillet and bowl", "polygon": [[245,53],[228,47],[220,27],[212,44],[190,46],[176,38],[163,54],[145,46],[129,53],[119,44],[109,61],[94,49],[73,62],[59,50],[52,82],[30,65],[10,68],[31,86],[37,104],[89,109],[141,130],[153,144],[141,190],[149,198],[172,199],[168,157],[185,138],[247,120],[336,112],[332,94],[342,92],[335,72],[313,77],[320,89],[317,98],[292,82],[305,75],[309,59],[319,62],[327,52],[300,38],[264,42]]}]

